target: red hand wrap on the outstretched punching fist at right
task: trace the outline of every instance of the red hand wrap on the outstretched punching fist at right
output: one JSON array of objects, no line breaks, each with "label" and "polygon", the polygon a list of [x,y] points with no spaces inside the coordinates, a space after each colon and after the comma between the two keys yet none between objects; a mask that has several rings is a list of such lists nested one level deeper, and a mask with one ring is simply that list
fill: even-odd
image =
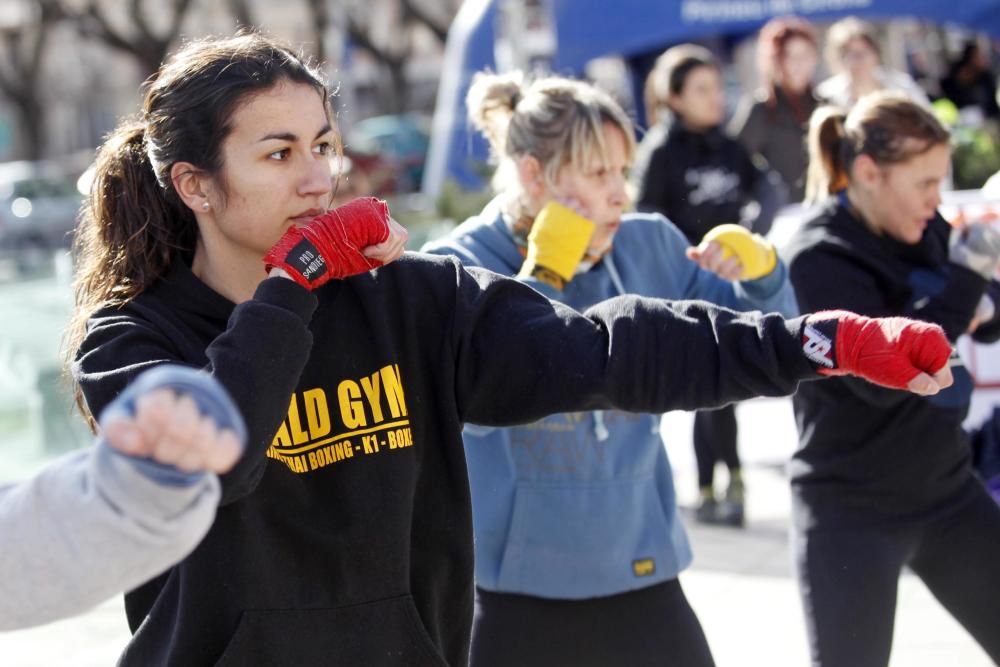
[{"label": "red hand wrap on the outstretched punching fist at right", "polygon": [[802,350],[821,375],[857,375],[893,389],[906,389],[921,372],[933,375],[951,356],[951,345],[936,324],[845,310],[807,317]]}]

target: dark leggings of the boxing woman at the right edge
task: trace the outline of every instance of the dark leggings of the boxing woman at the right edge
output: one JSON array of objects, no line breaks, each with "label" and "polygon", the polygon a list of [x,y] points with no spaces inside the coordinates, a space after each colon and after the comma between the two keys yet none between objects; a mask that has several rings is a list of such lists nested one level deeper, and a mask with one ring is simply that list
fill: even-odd
[{"label": "dark leggings of the boxing woman at the right edge", "polygon": [[1000,664],[1000,506],[970,484],[968,501],[933,520],[794,535],[813,665],[888,664],[904,565]]}]

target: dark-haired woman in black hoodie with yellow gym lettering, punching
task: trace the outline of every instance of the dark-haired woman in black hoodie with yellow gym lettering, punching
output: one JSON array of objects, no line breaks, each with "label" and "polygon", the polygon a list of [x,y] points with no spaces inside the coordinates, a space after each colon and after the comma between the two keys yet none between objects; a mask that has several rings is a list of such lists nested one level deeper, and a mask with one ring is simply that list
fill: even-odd
[{"label": "dark-haired woman in black hoodie with yellow gym lettering, punching", "polygon": [[[585,316],[455,260],[400,257],[384,202],[328,210],[331,116],[287,47],[208,39],[169,59],[138,124],[101,150],[71,338],[85,409],[177,363],[218,380],[247,426],[205,539],[126,595],[120,664],[466,664],[464,422],[787,394],[818,372],[812,320],[639,299]],[[665,353],[681,339],[704,380]],[[912,372],[883,381],[936,391],[943,364],[907,356]]]}]

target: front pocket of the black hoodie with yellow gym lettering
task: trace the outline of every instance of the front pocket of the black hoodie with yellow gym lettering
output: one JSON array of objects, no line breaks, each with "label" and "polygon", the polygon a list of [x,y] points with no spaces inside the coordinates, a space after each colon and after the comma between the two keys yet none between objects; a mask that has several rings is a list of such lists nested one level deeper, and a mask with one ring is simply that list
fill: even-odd
[{"label": "front pocket of the black hoodie with yellow gym lettering", "polygon": [[219,667],[442,667],[446,665],[404,595],[336,609],[248,609]]}]

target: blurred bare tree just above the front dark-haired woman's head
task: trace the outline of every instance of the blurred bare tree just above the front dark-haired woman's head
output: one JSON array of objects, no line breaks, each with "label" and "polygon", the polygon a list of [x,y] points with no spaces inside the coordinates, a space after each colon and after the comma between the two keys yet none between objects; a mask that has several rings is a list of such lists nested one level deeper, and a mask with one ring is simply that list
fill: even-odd
[{"label": "blurred bare tree just above the front dark-haired woman's head", "polygon": [[[81,11],[70,13],[77,29],[85,37],[96,38],[113,49],[127,53],[143,71],[143,78],[153,74],[167,55],[170,44],[180,33],[181,24],[191,7],[192,0],[168,0],[163,3],[168,13],[167,26],[157,32],[150,24],[146,5],[142,0],[128,0],[126,16],[128,27],[113,25],[98,0],[87,0]],[[242,4],[242,3],[231,3]],[[244,5],[245,6],[245,5]],[[249,12],[247,12],[249,17]]]}]

